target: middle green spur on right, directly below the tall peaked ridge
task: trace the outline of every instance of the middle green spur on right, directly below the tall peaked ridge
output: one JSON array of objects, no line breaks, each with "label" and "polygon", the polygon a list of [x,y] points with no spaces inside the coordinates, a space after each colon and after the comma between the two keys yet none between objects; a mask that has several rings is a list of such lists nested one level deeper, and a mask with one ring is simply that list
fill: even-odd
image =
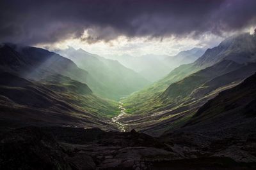
[{"label": "middle green spur on right, directly below the tall peaked ridge", "polygon": [[[172,85],[170,85],[166,90],[159,91],[158,94],[155,93],[154,97],[152,94],[152,97],[150,97],[147,102],[141,103],[141,105],[131,107],[126,104],[126,107],[131,113],[132,111],[135,111],[135,113],[138,114],[145,114],[151,111],[164,110],[166,109],[166,106],[168,106],[168,108],[179,106],[180,103],[191,100],[191,98],[188,96],[191,94],[191,92],[193,92],[193,90],[200,87],[202,84],[211,80],[212,78],[215,78],[216,76],[225,74],[229,71],[234,71],[239,66],[240,65],[236,64],[235,62],[225,60],[220,62],[220,64],[202,69],[201,71],[190,74],[183,80],[172,83]],[[137,100],[139,99],[140,98],[137,98]],[[128,100],[125,102],[128,102]]]}]

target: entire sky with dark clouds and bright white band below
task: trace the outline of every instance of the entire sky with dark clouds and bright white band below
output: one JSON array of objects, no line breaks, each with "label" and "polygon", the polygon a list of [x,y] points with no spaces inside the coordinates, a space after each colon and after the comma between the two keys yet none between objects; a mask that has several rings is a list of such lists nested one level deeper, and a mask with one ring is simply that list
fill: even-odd
[{"label": "entire sky with dark clouds and bright white band below", "polygon": [[1,0],[0,41],[105,57],[175,55],[253,31],[255,9],[255,0]]}]

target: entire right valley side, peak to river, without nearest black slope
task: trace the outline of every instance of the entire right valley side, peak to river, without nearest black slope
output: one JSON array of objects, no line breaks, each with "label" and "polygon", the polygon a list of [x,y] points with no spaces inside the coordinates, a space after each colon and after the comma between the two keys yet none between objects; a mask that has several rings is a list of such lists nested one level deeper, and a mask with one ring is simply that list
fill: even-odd
[{"label": "entire right valley side, peak to river, without nearest black slope", "polygon": [[[242,34],[241,37],[243,36]],[[234,38],[240,39],[239,37]],[[245,38],[244,41],[248,39]],[[236,49],[232,55],[227,55],[208,67],[205,66],[206,63],[202,67],[198,66],[199,59],[193,64],[180,66],[166,76],[166,80],[158,81],[151,87],[127,97],[122,102],[130,115],[120,119],[120,122],[126,124],[127,129],[134,128],[155,136],[182,127],[200,106],[217,96],[219,92],[238,85],[256,72],[255,62],[251,62],[254,61],[255,53],[246,57],[248,60],[244,60],[243,53],[246,50],[240,48],[243,49],[241,52]],[[237,56],[234,55],[235,52],[243,58],[243,62],[236,62],[237,57],[236,61],[227,60],[227,57],[232,59],[232,56]],[[205,56],[209,57],[202,55]],[[213,58],[214,56],[212,55]]]}]

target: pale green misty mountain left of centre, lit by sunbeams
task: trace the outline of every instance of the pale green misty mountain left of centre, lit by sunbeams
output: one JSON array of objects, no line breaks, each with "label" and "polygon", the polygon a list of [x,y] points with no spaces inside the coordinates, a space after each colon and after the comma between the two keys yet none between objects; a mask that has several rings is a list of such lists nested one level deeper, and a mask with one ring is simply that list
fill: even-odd
[{"label": "pale green misty mountain left of centre, lit by sunbeams", "polygon": [[88,82],[93,92],[99,96],[118,100],[149,84],[149,81],[140,74],[122,66],[116,60],[105,59],[82,49],[75,50],[71,47],[58,53],[73,60],[77,66],[88,71],[97,82],[103,85],[101,88],[94,88],[97,85],[94,85],[94,82]]}]

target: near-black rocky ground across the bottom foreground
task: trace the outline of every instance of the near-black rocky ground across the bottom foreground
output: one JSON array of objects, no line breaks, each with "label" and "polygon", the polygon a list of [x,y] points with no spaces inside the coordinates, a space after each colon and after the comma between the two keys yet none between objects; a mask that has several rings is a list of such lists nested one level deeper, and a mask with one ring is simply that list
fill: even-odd
[{"label": "near-black rocky ground across the bottom foreground", "polygon": [[256,135],[24,127],[0,135],[1,169],[256,169]]}]

